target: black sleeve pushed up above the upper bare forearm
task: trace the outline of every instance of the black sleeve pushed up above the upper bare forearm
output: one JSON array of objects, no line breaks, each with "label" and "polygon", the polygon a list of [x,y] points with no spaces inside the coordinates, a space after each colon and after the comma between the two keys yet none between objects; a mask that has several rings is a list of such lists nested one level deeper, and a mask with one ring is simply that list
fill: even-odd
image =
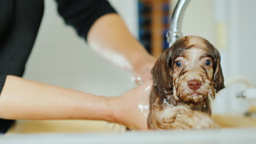
[{"label": "black sleeve pushed up above the upper bare forearm", "polygon": [[101,16],[117,13],[106,0],[56,0],[59,14],[67,25],[87,40],[89,29]]}]

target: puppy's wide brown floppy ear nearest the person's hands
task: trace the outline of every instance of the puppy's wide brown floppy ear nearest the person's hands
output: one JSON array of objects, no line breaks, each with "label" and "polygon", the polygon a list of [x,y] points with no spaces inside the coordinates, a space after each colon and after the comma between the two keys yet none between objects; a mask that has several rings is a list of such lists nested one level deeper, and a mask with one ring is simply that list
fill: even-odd
[{"label": "puppy's wide brown floppy ear nearest the person's hands", "polygon": [[155,62],[155,65],[151,70],[155,87],[162,94],[172,92],[173,86],[170,68],[170,63],[172,63],[171,51],[171,48],[166,49]]}]

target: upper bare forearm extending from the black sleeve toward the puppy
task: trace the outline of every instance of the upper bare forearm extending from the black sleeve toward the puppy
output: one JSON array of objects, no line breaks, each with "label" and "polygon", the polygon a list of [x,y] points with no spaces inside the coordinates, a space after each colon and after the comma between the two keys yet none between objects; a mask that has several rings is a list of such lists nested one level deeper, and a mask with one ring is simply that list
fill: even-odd
[{"label": "upper bare forearm extending from the black sleeve toward the puppy", "polygon": [[155,59],[132,36],[118,14],[107,14],[92,25],[88,43],[114,64],[132,71]]}]

